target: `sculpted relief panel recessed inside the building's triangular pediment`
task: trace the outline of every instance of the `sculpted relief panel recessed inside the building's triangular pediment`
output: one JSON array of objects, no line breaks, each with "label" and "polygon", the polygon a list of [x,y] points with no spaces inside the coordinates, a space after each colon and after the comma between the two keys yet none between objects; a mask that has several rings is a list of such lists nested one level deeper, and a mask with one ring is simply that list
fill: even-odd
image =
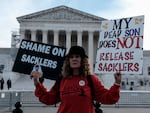
[{"label": "sculpted relief panel recessed inside the building's triangular pediment", "polygon": [[69,11],[66,9],[50,11],[50,12],[43,12],[41,14],[30,16],[30,20],[63,20],[63,21],[95,21],[94,17],[89,17],[88,15]]}]

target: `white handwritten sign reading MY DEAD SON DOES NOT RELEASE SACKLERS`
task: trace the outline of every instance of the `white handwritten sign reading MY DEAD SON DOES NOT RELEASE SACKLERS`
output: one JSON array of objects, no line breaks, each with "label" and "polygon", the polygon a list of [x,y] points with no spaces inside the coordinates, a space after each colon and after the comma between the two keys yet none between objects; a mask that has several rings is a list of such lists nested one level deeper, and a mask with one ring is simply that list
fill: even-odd
[{"label": "white handwritten sign reading MY DEAD SON DOES NOT RELEASE SACKLERS", "polygon": [[141,74],[144,16],[103,21],[95,73]]}]

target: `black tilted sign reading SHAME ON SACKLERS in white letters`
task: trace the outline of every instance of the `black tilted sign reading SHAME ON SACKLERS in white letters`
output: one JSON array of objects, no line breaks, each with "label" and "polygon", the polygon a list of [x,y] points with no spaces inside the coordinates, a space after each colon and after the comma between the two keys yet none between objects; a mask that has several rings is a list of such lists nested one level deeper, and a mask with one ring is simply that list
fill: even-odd
[{"label": "black tilted sign reading SHAME ON SACKLERS in white letters", "polygon": [[12,71],[30,74],[39,65],[45,78],[55,80],[61,73],[65,53],[63,47],[22,40]]}]

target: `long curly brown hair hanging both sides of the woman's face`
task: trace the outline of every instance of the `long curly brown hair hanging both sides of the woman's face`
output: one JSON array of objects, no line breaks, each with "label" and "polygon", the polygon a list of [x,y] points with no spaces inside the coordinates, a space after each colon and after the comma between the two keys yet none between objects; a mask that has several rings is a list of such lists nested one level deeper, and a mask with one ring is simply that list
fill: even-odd
[{"label": "long curly brown hair hanging both sides of the woman's face", "polygon": [[[91,65],[89,59],[84,57],[81,59],[81,67],[79,69],[80,76],[86,77],[87,75],[92,74],[91,72]],[[72,76],[72,68],[70,67],[69,57],[66,57],[62,66],[62,76],[63,77],[70,77]]]}]

